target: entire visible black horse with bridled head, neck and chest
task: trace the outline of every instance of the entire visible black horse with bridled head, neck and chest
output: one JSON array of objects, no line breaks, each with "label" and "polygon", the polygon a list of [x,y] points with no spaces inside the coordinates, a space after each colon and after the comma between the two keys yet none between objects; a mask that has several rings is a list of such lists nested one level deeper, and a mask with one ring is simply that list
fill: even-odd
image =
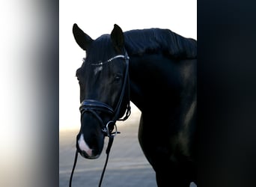
[{"label": "entire visible black horse with bridled head, neck and chest", "polygon": [[196,183],[196,40],[159,28],[123,32],[118,25],[93,40],[74,24],[73,35],[86,51],[76,71],[78,152],[97,159],[115,121],[129,116],[131,100],[141,111],[138,140],[157,185]]}]

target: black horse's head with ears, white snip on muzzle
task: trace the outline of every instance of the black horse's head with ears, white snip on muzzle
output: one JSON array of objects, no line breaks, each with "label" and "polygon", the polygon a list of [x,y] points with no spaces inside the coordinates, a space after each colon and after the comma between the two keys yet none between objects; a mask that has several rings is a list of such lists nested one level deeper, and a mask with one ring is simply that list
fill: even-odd
[{"label": "black horse's head with ears, white snip on muzzle", "polygon": [[[124,49],[124,33],[115,25],[111,34],[96,40],[73,25],[76,43],[86,52],[76,70],[80,87],[81,128],[76,149],[86,159],[97,159],[104,138],[116,133],[116,120],[129,116],[129,57]],[[112,132],[115,129],[115,132]]]}]

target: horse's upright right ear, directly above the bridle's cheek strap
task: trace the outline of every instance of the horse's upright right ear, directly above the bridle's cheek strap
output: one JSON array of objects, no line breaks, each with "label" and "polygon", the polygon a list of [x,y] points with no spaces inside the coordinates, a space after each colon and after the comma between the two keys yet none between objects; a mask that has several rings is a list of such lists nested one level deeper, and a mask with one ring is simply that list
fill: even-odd
[{"label": "horse's upright right ear, directly above the bridle's cheek strap", "polygon": [[124,33],[117,24],[114,25],[114,28],[111,32],[111,40],[112,40],[113,46],[115,47],[115,50],[117,50],[117,52],[120,52],[120,53],[123,52]]}]

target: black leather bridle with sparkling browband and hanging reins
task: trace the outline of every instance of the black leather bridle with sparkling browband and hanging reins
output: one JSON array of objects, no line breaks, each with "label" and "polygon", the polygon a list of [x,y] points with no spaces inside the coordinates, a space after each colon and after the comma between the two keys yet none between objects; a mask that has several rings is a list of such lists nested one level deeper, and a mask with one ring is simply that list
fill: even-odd
[{"label": "black leather bridle with sparkling browband and hanging reins", "polygon": [[[109,143],[108,143],[108,146],[106,148],[106,162],[105,162],[103,172],[102,172],[101,177],[100,177],[99,186],[101,186],[103,176],[104,176],[104,173],[106,171],[106,165],[107,165],[108,160],[109,160],[109,152],[110,152],[110,149],[112,147],[114,137],[115,137],[115,135],[120,133],[120,132],[118,132],[118,128],[117,128],[117,125],[115,123],[116,123],[117,120],[127,120],[129,115],[131,114],[131,108],[130,108],[130,105],[129,105],[129,56],[127,55],[127,52],[125,52],[125,55],[116,55],[113,58],[109,58],[109,60],[107,60],[107,61],[100,62],[100,63],[97,63],[97,64],[90,64],[92,66],[101,66],[103,64],[110,63],[113,60],[118,59],[118,58],[124,59],[125,64],[126,64],[126,70],[125,70],[125,74],[124,74],[124,84],[122,86],[121,94],[120,94],[120,97],[119,97],[119,100],[118,100],[118,104],[115,107],[115,110],[110,105],[107,105],[104,102],[100,102],[100,101],[97,101],[97,100],[94,100],[94,99],[85,99],[85,100],[83,100],[81,102],[80,107],[79,107],[79,110],[81,112],[81,117],[85,113],[93,114],[94,117],[99,121],[104,136],[109,137]],[[127,86],[128,86],[127,108],[126,108],[124,118],[120,118],[121,105],[122,105],[122,102],[124,100],[124,94],[125,94]],[[105,114],[109,114],[110,116],[112,116],[112,120],[109,120],[109,122],[107,122],[105,124],[103,122],[102,118],[100,117],[100,115],[97,113],[97,111],[101,111]],[[110,126],[112,126],[113,128],[109,128]],[[114,129],[114,127],[115,127],[115,132],[112,132],[111,129]],[[71,183],[72,183],[73,172],[76,168],[76,161],[77,161],[78,153],[79,153],[79,151],[76,149],[76,155],[75,155],[75,160],[74,160],[74,164],[73,164],[73,169],[72,169],[72,172],[71,172],[71,175],[70,175],[70,187],[71,187]]]}]

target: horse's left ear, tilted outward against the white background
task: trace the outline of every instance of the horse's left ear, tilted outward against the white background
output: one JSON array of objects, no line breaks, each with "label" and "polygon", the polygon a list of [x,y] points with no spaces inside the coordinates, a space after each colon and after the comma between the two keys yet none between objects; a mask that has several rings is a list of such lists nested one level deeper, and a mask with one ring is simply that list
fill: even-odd
[{"label": "horse's left ear, tilted outward against the white background", "polygon": [[73,25],[73,35],[75,37],[76,43],[79,44],[79,46],[85,51],[94,41],[91,39],[91,37],[85,34],[84,31],[82,31],[82,29],[79,28],[79,26],[76,23]]}]

